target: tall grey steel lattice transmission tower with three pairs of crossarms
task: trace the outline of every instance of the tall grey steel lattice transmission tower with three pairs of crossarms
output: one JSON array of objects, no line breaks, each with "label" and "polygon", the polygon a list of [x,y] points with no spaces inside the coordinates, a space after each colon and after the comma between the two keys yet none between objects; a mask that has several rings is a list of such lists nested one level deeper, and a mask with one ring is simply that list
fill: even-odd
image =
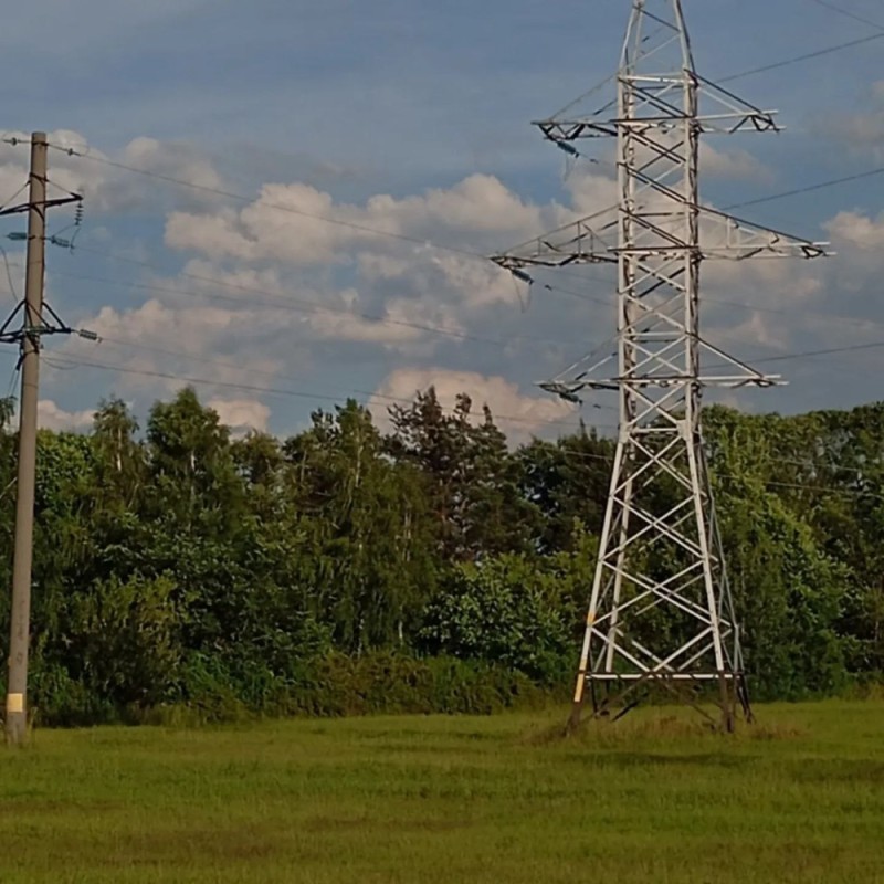
[{"label": "tall grey steel lattice transmission tower with three pairs of crossarms", "polygon": [[[540,385],[571,401],[615,390],[620,422],[570,724],[620,717],[660,687],[733,729],[750,718],[739,629],[727,582],[701,432],[706,387],[770,387],[701,336],[704,260],[804,259],[803,241],[701,204],[704,134],[777,131],[775,112],[747,104],[696,73],[681,0],[633,0],[617,94],[591,113],[573,103],[535,125],[572,156],[575,143],[614,138],[618,204],[493,260],[518,278],[532,269],[611,264],[618,273],[614,357],[588,358]],[[602,84],[604,87],[607,84]],[[596,106],[600,90],[585,99]],[[583,102],[586,103],[586,102]],[[705,368],[713,357],[714,365]],[[612,358],[612,375],[601,372]],[[716,686],[718,690],[709,690]]]}]

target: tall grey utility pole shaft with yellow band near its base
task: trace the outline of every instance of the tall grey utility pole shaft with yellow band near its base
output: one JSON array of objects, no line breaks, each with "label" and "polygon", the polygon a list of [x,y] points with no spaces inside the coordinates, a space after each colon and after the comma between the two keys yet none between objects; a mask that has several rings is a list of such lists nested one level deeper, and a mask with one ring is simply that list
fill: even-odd
[{"label": "tall grey utility pole shaft with yellow band near its base", "polygon": [[24,743],[28,734],[28,644],[31,631],[31,565],[36,476],[36,403],[40,383],[40,334],[43,326],[43,278],[46,246],[45,133],[31,138],[28,208],[28,263],[24,277],[24,334],[21,338],[19,472],[15,495],[15,549],[12,562],[7,741]]}]

